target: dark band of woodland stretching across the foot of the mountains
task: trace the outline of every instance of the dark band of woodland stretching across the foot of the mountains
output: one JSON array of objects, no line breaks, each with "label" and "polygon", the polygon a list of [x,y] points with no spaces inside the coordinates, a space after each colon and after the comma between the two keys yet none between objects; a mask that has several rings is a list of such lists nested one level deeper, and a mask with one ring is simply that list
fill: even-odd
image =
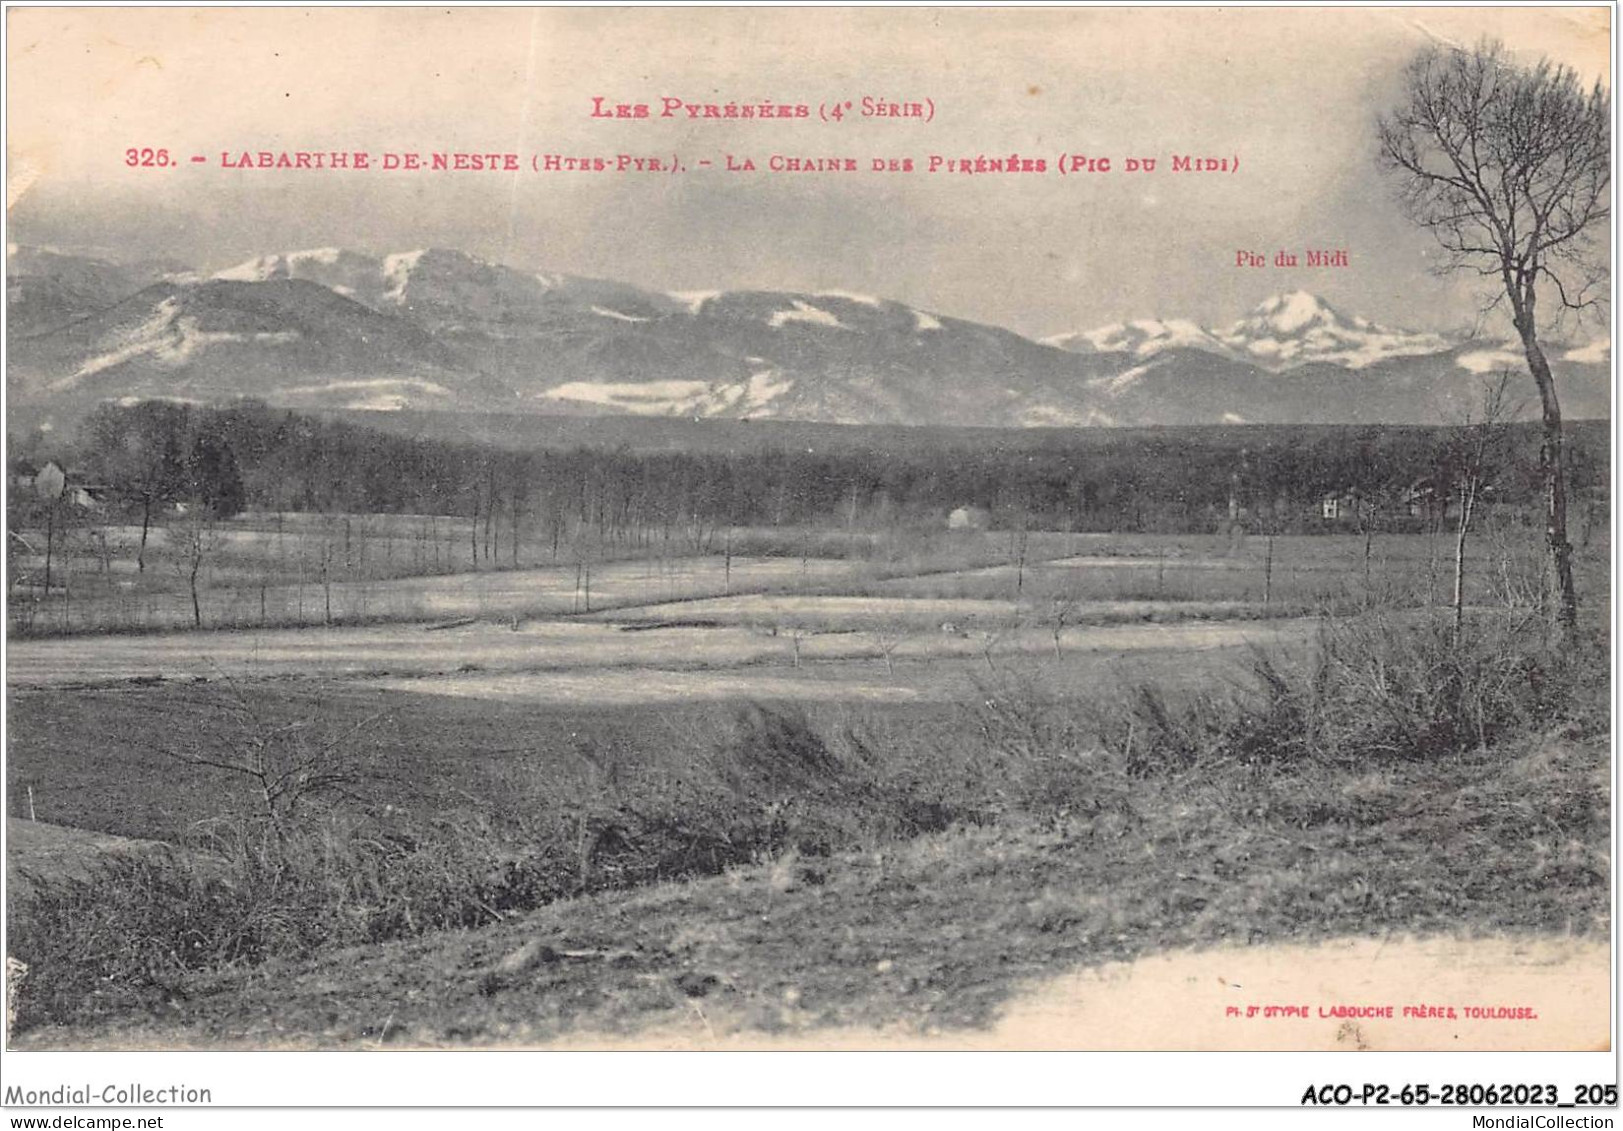
[{"label": "dark band of woodland stretching across the foot of the mountains", "polygon": [[[1446,498],[1477,451],[1462,427],[933,428],[930,443],[891,443],[894,430],[750,427],[748,448],[526,449],[396,435],[256,402],[151,401],[102,406],[70,446],[36,454],[127,505],[458,514],[514,529],[589,524],[625,534],[693,522],[935,522],[958,508],[1000,527],[1209,531],[1238,511],[1248,522],[1302,531],[1323,527],[1324,497],[1349,492],[1378,501],[1380,521],[1401,522],[1409,513],[1401,500],[1415,485]],[[807,443],[813,435],[818,443]],[[1578,500],[1605,497],[1608,441],[1604,422],[1569,428]],[[1537,445],[1527,425],[1495,433],[1487,480],[1500,503],[1537,501]]]}]

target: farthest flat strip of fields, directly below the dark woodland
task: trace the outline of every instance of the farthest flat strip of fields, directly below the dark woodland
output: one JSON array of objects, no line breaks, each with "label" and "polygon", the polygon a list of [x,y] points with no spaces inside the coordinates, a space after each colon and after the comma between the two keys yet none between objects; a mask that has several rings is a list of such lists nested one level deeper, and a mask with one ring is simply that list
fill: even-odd
[{"label": "farthest flat strip of fields, directly below the dark woodland", "polygon": [[[437,555],[424,548],[430,532]],[[1055,602],[1300,615],[1438,604],[1453,581],[1451,539],[1420,534],[1383,534],[1367,547],[1357,535],[737,527],[696,540],[665,531],[635,544],[526,544],[519,565],[471,555],[472,534],[454,518],[240,516],[203,544],[154,527],[146,571],[136,573],[136,531],[107,527],[101,542],[80,531],[58,547],[47,599],[44,535],[23,531],[11,557],[11,634],[511,620],[751,594],[1014,602],[1027,618]],[[188,545],[200,550],[196,607]],[[453,545],[456,555],[438,553]],[[1586,594],[1608,591],[1607,561],[1604,537],[1579,548]],[[1540,568],[1535,531],[1485,526],[1467,545],[1466,600],[1524,596]]]}]

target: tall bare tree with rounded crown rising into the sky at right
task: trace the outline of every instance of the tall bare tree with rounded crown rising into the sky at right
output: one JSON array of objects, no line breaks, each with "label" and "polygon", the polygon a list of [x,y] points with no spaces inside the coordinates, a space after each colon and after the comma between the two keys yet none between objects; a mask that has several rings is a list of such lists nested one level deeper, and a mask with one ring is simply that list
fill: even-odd
[{"label": "tall bare tree with rounded crown rising into the sky at right", "polygon": [[1448,253],[1444,269],[1493,279],[1493,305],[1509,302],[1543,414],[1539,464],[1560,639],[1578,626],[1578,592],[1539,289],[1555,289],[1560,312],[1605,302],[1610,122],[1600,83],[1586,91],[1573,70],[1548,60],[1518,65],[1498,42],[1423,50],[1409,65],[1402,105],[1380,120],[1381,164],[1410,219]]}]

